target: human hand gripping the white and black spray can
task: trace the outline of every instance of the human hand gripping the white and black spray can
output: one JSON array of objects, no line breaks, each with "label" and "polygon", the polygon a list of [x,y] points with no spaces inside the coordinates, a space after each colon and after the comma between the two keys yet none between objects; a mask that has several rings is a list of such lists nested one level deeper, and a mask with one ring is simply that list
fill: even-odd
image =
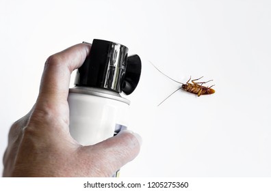
[{"label": "human hand gripping the white and black spray can", "polygon": [[90,48],[77,44],[47,59],[36,104],[10,129],[4,177],[111,177],[138,155],[141,138],[127,130],[92,146],[81,146],[70,136],[70,74]]}]

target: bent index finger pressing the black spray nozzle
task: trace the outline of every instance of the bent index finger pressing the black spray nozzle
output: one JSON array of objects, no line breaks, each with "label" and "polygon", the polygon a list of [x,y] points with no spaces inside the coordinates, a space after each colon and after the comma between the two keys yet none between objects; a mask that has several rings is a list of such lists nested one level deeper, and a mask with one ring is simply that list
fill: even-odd
[{"label": "bent index finger pressing the black spray nozzle", "polygon": [[51,55],[44,65],[39,96],[57,102],[67,100],[70,74],[83,64],[90,47],[81,43]]}]

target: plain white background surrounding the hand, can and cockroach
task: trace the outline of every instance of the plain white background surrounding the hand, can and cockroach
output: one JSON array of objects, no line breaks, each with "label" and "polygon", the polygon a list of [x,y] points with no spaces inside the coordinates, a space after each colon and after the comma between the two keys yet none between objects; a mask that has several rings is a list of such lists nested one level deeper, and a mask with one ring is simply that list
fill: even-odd
[{"label": "plain white background surrounding the hand, can and cockroach", "polygon": [[[122,177],[270,176],[270,10],[260,0],[1,0],[0,155],[36,100],[47,57],[99,38],[142,57],[127,98],[143,145]],[[157,107],[179,84],[149,61],[181,82],[213,79],[216,93],[178,91]]]}]

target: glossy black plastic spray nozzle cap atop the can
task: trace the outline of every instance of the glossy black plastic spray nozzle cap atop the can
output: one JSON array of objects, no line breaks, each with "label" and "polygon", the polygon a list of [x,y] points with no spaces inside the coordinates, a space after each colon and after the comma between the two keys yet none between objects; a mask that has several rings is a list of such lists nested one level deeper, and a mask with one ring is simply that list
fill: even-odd
[{"label": "glossy black plastic spray nozzle cap atop the can", "polygon": [[90,55],[77,70],[75,85],[123,91],[129,95],[138,85],[140,74],[138,55],[128,57],[126,46],[94,39]]}]

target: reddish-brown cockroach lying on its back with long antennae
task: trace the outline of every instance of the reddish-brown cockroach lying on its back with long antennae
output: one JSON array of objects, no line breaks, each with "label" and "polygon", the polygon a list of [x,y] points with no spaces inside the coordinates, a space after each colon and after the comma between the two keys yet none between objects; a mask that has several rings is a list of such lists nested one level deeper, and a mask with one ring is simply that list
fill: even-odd
[{"label": "reddish-brown cockroach lying on its back with long antennae", "polygon": [[[151,62],[150,62],[151,63]],[[170,76],[167,76],[166,74],[164,74],[163,72],[161,72],[153,63],[151,63],[155,68],[156,70],[158,70],[161,74],[163,74],[164,76],[170,78]],[[203,76],[201,77],[203,78]],[[183,89],[184,91],[188,91],[190,93],[194,93],[194,94],[197,94],[198,97],[201,96],[201,95],[207,95],[207,94],[212,94],[212,93],[215,93],[215,90],[214,89],[211,89],[211,87],[213,87],[214,85],[211,85],[211,87],[205,87],[203,86],[203,84],[205,83],[209,83],[210,81],[212,80],[209,80],[207,82],[201,82],[201,83],[196,83],[195,81],[196,80],[200,80],[201,78],[197,78],[197,79],[194,79],[194,80],[191,80],[191,76],[189,78],[189,80],[186,82],[186,83],[181,83],[177,80],[174,80],[172,78],[170,78],[170,80],[173,80],[175,81],[176,83],[179,83],[181,84],[181,87],[179,87],[178,89],[176,89],[175,91],[173,91],[172,93],[170,93],[170,95],[168,95],[168,97],[166,97],[166,99],[164,99],[161,103],[159,103],[159,105],[161,105],[164,101],[166,101],[171,95],[173,95],[176,91],[178,91],[179,89]],[[189,83],[191,80],[192,83]],[[158,105],[158,106],[159,106]]]}]

